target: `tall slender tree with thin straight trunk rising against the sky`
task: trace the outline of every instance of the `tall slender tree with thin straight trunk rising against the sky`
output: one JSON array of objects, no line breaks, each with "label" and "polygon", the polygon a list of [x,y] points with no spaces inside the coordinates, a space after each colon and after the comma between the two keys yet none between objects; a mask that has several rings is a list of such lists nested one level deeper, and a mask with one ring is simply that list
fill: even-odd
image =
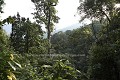
[{"label": "tall slender tree with thin straight trunk rising against the sky", "polygon": [[[44,24],[47,29],[47,39],[50,44],[51,32],[53,31],[54,23],[58,22],[58,16],[56,16],[55,6],[58,0],[31,0],[35,4],[36,12],[33,13],[38,23]],[[50,44],[51,47],[51,44]],[[50,47],[48,47],[48,53],[50,53]]]}]

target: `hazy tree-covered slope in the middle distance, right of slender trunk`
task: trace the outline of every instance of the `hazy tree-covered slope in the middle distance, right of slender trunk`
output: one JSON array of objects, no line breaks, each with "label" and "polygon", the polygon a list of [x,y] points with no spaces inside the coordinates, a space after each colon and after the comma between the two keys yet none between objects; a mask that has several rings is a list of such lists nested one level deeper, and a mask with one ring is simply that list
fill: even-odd
[{"label": "hazy tree-covered slope in the middle distance, right of slender trunk", "polygon": [[55,53],[68,54],[76,69],[87,72],[89,50],[100,32],[101,26],[98,21],[94,21],[93,24],[72,31],[55,33],[51,37],[52,48]]}]

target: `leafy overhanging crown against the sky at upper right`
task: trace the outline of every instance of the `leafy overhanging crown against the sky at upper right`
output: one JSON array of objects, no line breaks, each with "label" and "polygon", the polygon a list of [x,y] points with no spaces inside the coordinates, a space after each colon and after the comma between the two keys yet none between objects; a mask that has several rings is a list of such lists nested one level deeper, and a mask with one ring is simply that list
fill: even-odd
[{"label": "leafy overhanging crown against the sky at upper right", "polygon": [[82,20],[85,18],[103,19],[107,18],[111,22],[111,18],[115,15],[115,5],[118,0],[80,0],[78,11],[84,14]]}]

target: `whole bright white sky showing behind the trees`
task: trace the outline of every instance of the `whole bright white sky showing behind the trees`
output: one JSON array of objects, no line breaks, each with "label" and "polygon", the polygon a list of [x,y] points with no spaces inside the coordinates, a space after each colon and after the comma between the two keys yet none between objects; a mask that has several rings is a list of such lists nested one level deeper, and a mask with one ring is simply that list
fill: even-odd
[{"label": "whole bright white sky showing behind the trees", "polygon": [[[34,4],[31,0],[5,0],[6,5],[3,8],[4,13],[1,18],[7,18],[8,16],[14,16],[17,12],[22,17],[33,18],[31,13],[34,12]],[[56,9],[57,15],[60,17],[59,23],[55,25],[55,29],[62,29],[73,24],[79,23],[80,16],[77,15],[77,7],[79,6],[79,0],[59,0]],[[7,31],[10,28],[4,27]]]}]

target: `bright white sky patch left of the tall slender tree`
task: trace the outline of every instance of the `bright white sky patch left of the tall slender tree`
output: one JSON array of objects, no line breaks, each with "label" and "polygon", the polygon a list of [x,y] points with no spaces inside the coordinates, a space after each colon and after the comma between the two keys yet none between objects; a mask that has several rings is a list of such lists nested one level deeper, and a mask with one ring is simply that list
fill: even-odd
[{"label": "bright white sky patch left of the tall slender tree", "polygon": [[14,16],[17,12],[23,17],[32,17],[31,13],[34,11],[31,0],[5,0],[4,14],[2,18]]}]

